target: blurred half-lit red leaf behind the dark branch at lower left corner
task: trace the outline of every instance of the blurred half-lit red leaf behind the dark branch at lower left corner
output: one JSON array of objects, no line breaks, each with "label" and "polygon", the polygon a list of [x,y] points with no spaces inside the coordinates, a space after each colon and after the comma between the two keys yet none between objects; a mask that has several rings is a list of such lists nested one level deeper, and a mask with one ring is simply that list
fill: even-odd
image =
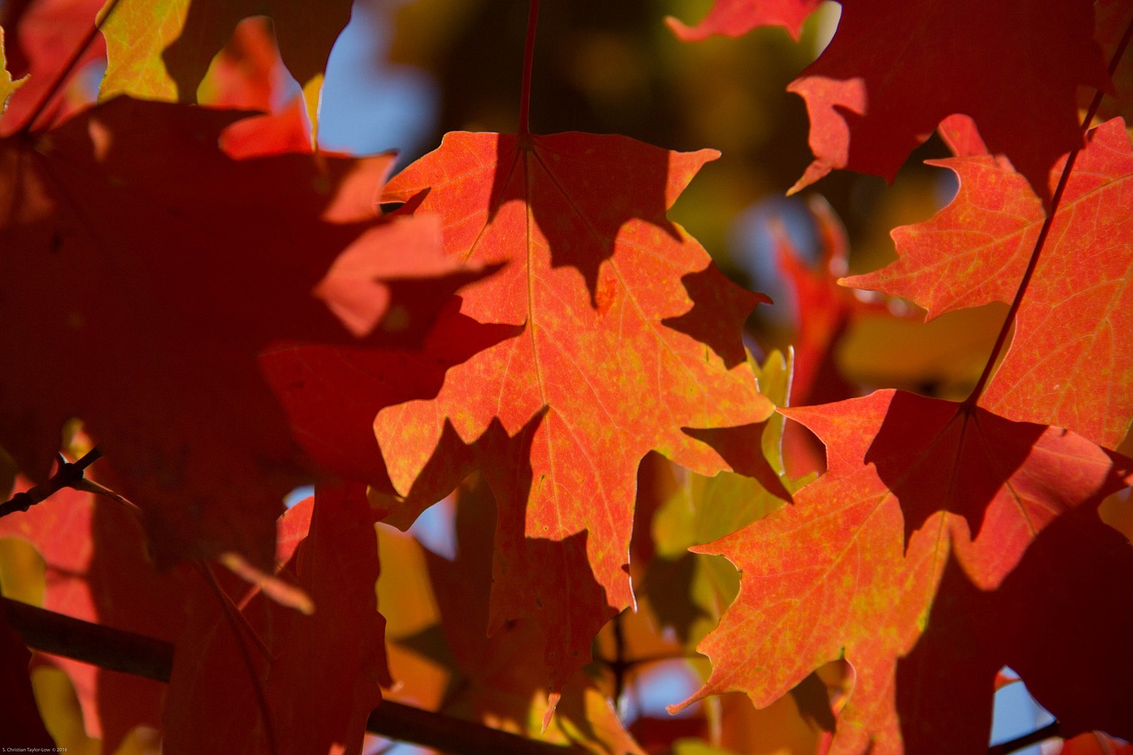
[{"label": "blurred half-lit red leaf behind the dark branch at lower left corner", "polygon": [[[0,519],[0,536],[18,537],[39,551],[45,568],[42,605],[50,611],[169,642],[187,618],[181,575],[157,574],[142,527],[119,503],[63,489],[20,516]],[[135,727],[160,726],[164,685],[40,655],[70,678],[84,728],[105,752],[117,750]]]}]

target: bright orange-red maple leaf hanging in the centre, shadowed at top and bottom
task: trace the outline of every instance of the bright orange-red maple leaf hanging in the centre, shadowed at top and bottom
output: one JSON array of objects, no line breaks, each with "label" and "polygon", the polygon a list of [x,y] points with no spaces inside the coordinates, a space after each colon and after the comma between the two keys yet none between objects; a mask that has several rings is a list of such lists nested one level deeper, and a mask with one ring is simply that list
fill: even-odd
[{"label": "bright orange-red maple leaf hanging in the centre, shadowed at top and bottom", "polygon": [[770,413],[736,338],[764,297],[664,214],[713,156],[622,136],[453,133],[384,194],[440,213],[449,254],[509,263],[463,292],[461,313],[522,326],[450,370],[435,400],[378,413],[390,477],[416,501],[391,521],[407,526],[479,464],[500,507],[491,630],[537,617],[553,686],[632,603],[641,457],[729,468],[682,429],[751,425],[758,446],[753,423]]}]

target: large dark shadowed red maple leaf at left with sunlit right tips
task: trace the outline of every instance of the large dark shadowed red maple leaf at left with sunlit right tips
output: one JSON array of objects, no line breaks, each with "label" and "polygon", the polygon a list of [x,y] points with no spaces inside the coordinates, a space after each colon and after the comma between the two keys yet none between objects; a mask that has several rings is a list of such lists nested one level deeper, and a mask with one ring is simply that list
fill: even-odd
[{"label": "large dark shadowed red maple leaf at left with sunlit right tips", "polygon": [[470,279],[435,220],[374,219],[389,155],[233,161],[216,137],[238,117],[122,97],[0,144],[0,444],[42,481],[82,417],[165,563],[270,565],[314,470],[263,351],[411,348]]}]

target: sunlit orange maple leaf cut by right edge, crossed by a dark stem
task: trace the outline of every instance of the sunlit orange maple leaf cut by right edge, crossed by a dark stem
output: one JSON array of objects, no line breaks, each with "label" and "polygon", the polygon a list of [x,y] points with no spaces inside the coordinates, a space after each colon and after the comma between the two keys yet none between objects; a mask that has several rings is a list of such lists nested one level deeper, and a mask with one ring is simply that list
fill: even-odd
[{"label": "sunlit orange maple leaf cut by right edge, crossed by a dark stem", "polygon": [[[987,156],[934,161],[960,190],[930,220],[893,231],[898,258],[846,286],[912,299],[928,317],[1010,303],[1045,214],[1026,180]],[[1048,180],[1053,188],[1059,162]],[[980,405],[1116,448],[1133,421],[1133,149],[1121,119],[1079,154],[1016,317],[1011,349]],[[942,285],[945,281],[946,285]]]}]

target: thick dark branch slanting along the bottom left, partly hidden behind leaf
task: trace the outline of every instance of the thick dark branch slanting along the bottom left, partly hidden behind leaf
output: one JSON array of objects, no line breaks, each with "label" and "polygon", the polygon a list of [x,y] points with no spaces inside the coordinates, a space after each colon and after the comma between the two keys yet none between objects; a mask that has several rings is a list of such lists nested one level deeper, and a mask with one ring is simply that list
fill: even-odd
[{"label": "thick dark branch slanting along the bottom left, partly hidden behind leaf", "polygon": [[[8,597],[0,601],[8,623],[31,647],[104,669],[169,681],[173,669],[172,643],[83,621]],[[582,752],[391,701],[384,701],[374,709],[366,727],[370,732],[390,739],[434,747],[453,755],[565,755]]]}]

